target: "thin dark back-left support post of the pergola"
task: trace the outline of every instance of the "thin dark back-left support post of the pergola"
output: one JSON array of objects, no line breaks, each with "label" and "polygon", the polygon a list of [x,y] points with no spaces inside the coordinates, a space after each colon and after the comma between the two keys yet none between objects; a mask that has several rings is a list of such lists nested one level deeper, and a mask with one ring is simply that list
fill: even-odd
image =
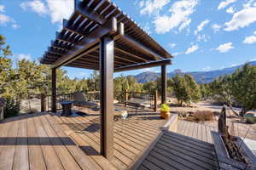
[{"label": "thin dark back-left support post of the pergola", "polygon": [[51,111],[56,112],[56,69],[51,69]]}]

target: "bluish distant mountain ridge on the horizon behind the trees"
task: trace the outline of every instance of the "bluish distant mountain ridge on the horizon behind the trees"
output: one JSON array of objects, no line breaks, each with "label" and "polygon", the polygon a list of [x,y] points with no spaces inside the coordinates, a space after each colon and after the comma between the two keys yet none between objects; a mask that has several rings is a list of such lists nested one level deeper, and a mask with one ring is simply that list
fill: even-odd
[{"label": "bluish distant mountain ridge on the horizon behind the trees", "polygon": [[[256,65],[256,61],[249,62],[250,65]],[[167,77],[174,77],[178,74],[190,74],[195,78],[195,81],[198,83],[209,83],[214,81],[217,77],[224,75],[230,75],[236,69],[241,68],[242,65],[237,65],[230,68],[224,68],[216,71],[193,71],[193,72],[181,72],[180,70],[172,71],[167,74]],[[137,79],[137,82],[152,82],[156,80],[157,77],[160,77],[160,73],[146,71],[134,76]]]}]

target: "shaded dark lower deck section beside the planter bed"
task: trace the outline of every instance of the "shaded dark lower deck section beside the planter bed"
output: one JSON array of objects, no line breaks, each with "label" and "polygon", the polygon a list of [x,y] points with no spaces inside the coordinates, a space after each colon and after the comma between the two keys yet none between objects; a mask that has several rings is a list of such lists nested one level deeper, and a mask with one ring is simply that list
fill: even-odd
[{"label": "shaded dark lower deck section beside the planter bed", "polygon": [[166,131],[138,170],[218,169],[212,144]]}]

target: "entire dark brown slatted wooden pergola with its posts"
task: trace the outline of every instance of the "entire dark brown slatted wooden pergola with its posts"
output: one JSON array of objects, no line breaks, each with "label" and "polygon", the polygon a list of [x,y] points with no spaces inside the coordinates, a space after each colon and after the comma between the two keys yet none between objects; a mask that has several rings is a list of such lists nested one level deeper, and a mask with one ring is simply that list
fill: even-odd
[{"label": "entire dark brown slatted wooden pergola with its posts", "polygon": [[56,111],[56,69],[100,71],[101,154],[113,157],[113,72],[161,66],[161,102],[166,103],[166,65],[172,55],[108,0],[75,0],[75,9],[41,59],[52,65],[52,111]]}]

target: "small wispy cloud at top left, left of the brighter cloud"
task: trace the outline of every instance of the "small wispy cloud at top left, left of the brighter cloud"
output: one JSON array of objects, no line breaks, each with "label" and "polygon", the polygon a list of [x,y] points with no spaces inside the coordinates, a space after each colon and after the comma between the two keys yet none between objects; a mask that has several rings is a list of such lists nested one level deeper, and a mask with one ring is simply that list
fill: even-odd
[{"label": "small wispy cloud at top left, left of the brighter cloud", "polygon": [[40,15],[48,13],[48,9],[46,8],[45,4],[40,0],[33,0],[30,2],[20,3],[20,7],[23,10],[26,10],[27,8],[31,8],[32,11]]}]

